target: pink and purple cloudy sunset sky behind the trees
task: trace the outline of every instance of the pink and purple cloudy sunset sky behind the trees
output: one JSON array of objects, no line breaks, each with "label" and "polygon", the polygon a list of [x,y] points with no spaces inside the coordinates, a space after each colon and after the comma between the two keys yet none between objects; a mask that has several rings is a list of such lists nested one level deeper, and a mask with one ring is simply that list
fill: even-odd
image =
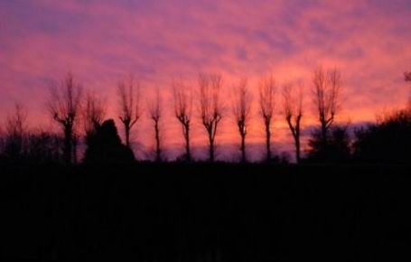
[{"label": "pink and purple cloudy sunset sky behind the trees", "polygon": [[[411,1],[0,0],[0,123],[19,102],[28,108],[31,126],[52,126],[45,103],[51,85],[68,71],[104,98],[107,117],[118,120],[117,83],[133,74],[145,99],[161,90],[163,143],[175,156],[182,136],[169,110],[173,79],[197,89],[200,72],[219,73],[226,108],[238,80],[247,78],[254,92],[248,145],[257,159],[264,140],[258,81],[273,74],[279,88],[303,82],[304,126],[313,126],[312,75],[320,66],[341,70],[340,123],[360,125],[403,107],[409,92],[403,72],[411,70]],[[277,104],[273,147],[280,153],[292,150],[292,140],[279,98]],[[205,134],[198,120],[193,125],[193,144],[201,148]],[[229,109],[220,127],[219,157],[237,157]],[[133,138],[136,154],[149,156],[154,138],[146,114]]]}]

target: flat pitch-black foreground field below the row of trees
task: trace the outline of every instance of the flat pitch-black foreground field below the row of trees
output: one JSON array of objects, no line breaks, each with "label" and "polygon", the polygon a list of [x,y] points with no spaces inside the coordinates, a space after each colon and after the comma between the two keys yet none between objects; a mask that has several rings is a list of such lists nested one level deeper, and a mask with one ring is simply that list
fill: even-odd
[{"label": "flat pitch-black foreground field below the row of trees", "polygon": [[372,261],[410,256],[406,167],[2,165],[0,173],[2,257]]}]

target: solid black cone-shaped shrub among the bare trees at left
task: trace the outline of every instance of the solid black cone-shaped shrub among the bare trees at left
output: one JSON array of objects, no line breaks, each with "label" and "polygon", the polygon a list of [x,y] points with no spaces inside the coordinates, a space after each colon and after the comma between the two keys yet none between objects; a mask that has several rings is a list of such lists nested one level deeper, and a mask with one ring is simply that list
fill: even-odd
[{"label": "solid black cone-shaped shrub among the bare trees at left", "polygon": [[121,144],[113,119],[108,119],[98,126],[95,133],[89,136],[87,145],[85,163],[118,163],[135,160],[131,149]]}]

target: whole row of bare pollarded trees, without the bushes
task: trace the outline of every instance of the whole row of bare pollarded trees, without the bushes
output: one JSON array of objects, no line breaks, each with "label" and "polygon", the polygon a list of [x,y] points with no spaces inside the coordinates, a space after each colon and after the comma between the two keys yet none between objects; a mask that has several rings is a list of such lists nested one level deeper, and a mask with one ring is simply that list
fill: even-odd
[{"label": "whole row of bare pollarded trees, without the bushes", "polygon": [[[211,162],[215,160],[216,136],[220,121],[223,115],[225,116],[223,114],[223,101],[220,98],[222,87],[222,77],[218,74],[200,74],[198,77],[196,108],[198,108],[201,125],[207,134],[209,160]],[[182,80],[174,80],[172,89],[174,116],[182,126],[182,136],[185,142],[183,156],[185,160],[191,161],[193,92]],[[276,108],[282,108],[285,121],[294,139],[295,159],[299,162],[301,160],[301,123],[304,117],[302,86],[294,87],[291,84],[283,86],[281,89],[282,107],[276,105],[275,98],[278,88],[273,76],[261,80],[258,91],[258,108],[266,136],[266,159],[270,160],[273,157],[271,150],[273,117]],[[322,68],[319,68],[313,71],[313,103],[316,106],[324,143],[326,143],[327,133],[339,109],[340,93],[341,72],[339,70],[322,70]],[[130,148],[130,134],[141,117],[143,109],[140,82],[132,77],[119,81],[117,95],[119,120],[124,129],[125,144]],[[240,80],[234,87],[234,99],[232,100],[231,109],[238,127],[242,162],[247,161],[246,137],[251,117],[252,101],[247,80]],[[106,118],[106,105],[95,93],[84,95],[79,82],[75,80],[71,73],[68,73],[57,86],[51,89],[51,97],[47,103],[47,108],[53,120],[61,126],[64,161],[67,164],[73,163],[76,159],[79,136],[84,136],[87,141],[93,135]],[[159,123],[163,117],[163,103],[159,89],[156,89],[154,99],[147,103],[147,111],[154,123],[155,160],[160,161],[162,159],[162,145]],[[23,118],[23,110],[18,106],[14,116],[9,117],[7,126],[21,126],[19,128],[23,128]],[[80,128],[81,126],[82,128]],[[23,130],[14,130],[13,132],[19,134]]]}]

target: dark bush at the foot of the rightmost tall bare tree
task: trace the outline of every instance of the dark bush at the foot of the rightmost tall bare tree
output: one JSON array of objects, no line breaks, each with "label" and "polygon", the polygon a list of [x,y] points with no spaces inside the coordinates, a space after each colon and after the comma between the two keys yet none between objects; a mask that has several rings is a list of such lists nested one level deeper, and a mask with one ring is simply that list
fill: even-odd
[{"label": "dark bush at the foot of the rightmost tall bare tree", "polygon": [[321,163],[347,163],[350,161],[350,136],[348,126],[333,126],[322,138],[320,129],[315,129],[308,142],[310,150],[306,161]]}]

